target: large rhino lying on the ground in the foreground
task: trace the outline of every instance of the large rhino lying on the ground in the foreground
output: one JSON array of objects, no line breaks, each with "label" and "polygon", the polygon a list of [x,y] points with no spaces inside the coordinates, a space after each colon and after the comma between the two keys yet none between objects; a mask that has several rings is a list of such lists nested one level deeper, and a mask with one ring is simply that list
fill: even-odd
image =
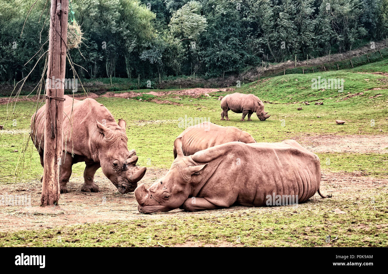
[{"label": "large rhino lying on the ground in the foreground", "polygon": [[191,156],[184,156],[180,138],[174,146],[178,156],[168,173],[149,189],[144,184],[135,189],[139,212],[288,204],[278,204],[278,195],[303,203],[317,191],[322,198],[331,197],[319,191],[318,156],[294,140],[230,142]]}]

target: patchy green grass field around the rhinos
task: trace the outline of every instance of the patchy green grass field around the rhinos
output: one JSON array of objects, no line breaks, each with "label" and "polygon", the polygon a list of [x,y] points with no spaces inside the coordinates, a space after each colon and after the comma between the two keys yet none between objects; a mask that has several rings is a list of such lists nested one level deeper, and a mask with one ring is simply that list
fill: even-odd
[{"label": "patchy green grass field around the rhinos", "polygon": [[[185,117],[206,118],[218,125],[241,128],[258,142],[321,135],[338,135],[338,138],[345,135],[387,135],[388,77],[377,74],[387,72],[388,59],[355,69],[266,78],[237,88],[234,92],[253,93],[267,102],[265,111],[271,117],[266,121],[259,121],[253,114],[253,121],[241,122],[241,114],[231,111],[230,121],[220,121],[220,101],[217,98],[232,92],[214,92],[211,97],[199,98],[180,95],[181,100],[176,99],[177,95],[163,96],[163,100],[171,104],[147,101],[154,97],[145,95],[142,102],[138,101],[139,98],[111,97],[99,97],[97,101],[104,104],[116,120],[126,120],[128,148],[136,149],[139,165],[169,168],[173,160],[173,141],[184,130],[179,127],[179,122]],[[318,76],[344,79],[343,92],[312,89],[312,79]],[[303,103],[306,101],[310,105]],[[324,104],[314,105],[316,101]],[[298,111],[299,107],[303,109]],[[0,133],[0,184],[12,186],[15,182],[29,182],[41,177],[38,153],[31,141],[28,142],[28,127],[34,108],[36,106],[31,101],[17,102],[15,110],[9,109],[7,115],[7,106],[0,105],[0,124],[4,125]],[[345,120],[345,125],[337,125],[336,119]],[[27,142],[24,161],[19,161]],[[16,149],[18,152],[14,152]],[[330,152],[318,155],[322,172],[362,172],[365,176],[388,178],[388,153]],[[327,158],[330,158],[330,165],[325,164]],[[21,168],[15,177],[17,163]],[[83,168],[83,163],[75,165],[73,176],[81,176]],[[365,193],[374,197],[374,210],[371,210],[369,200],[355,195],[353,198],[359,198],[359,202],[346,202],[349,214],[329,214],[329,210],[343,208],[344,203],[340,199],[324,199],[316,206],[307,203],[296,210],[246,208],[241,212],[225,212],[221,217],[180,213],[173,217],[162,216],[158,220],[1,232],[0,246],[157,246],[158,242],[176,245],[187,241],[212,244],[217,241],[236,243],[238,237],[241,239],[238,245],[245,246],[320,246],[325,245],[322,238],[339,233],[345,233],[347,237],[338,239],[335,246],[386,246],[387,192],[367,190]],[[346,197],[346,193],[341,195]],[[366,232],[359,224],[368,227]],[[376,225],[383,225],[383,230]],[[57,241],[59,230],[67,241]]]}]

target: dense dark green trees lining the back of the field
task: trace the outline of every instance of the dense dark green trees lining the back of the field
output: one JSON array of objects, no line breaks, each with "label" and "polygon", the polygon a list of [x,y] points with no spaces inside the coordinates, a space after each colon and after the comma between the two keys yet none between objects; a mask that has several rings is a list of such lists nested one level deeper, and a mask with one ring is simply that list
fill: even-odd
[{"label": "dense dark green trees lining the back of the field", "polygon": [[[0,81],[47,50],[50,1],[0,0]],[[73,0],[80,77],[220,75],[343,52],[388,34],[388,0]],[[25,24],[28,10],[33,5]],[[23,28],[24,26],[24,28]],[[23,29],[23,31],[22,31]],[[25,65],[41,48],[38,54]],[[38,80],[43,57],[31,75]],[[73,73],[68,66],[67,76]]]}]

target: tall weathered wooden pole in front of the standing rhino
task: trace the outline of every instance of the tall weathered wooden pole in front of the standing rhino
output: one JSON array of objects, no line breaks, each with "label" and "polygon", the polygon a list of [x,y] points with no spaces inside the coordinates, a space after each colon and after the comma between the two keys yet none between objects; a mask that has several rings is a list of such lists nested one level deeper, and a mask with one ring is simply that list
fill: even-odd
[{"label": "tall weathered wooden pole in front of the standing rhino", "polygon": [[[43,148],[42,206],[58,203],[59,165],[62,157],[62,119],[66,43],[68,37],[68,0],[51,0],[49,60],[45,105],[45,143]],[[61,85],[56,85],[59,79]]]}]

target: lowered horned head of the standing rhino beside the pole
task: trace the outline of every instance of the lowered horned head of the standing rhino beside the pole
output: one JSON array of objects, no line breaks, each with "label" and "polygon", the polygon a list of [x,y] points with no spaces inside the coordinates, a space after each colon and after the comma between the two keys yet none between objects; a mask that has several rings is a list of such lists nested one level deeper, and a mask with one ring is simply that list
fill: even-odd
[{"label": "lowered horned head of the standing rhino beside the pole", "polygon": [[139,159],[136,151],[128,151],[125,120],[119,119],[118,124],[106,122],[108,124],[109,127],[97,121],[99,134],[96,143],[102,172],[120,193],[132,192],[147,168],[136,166]]}]

